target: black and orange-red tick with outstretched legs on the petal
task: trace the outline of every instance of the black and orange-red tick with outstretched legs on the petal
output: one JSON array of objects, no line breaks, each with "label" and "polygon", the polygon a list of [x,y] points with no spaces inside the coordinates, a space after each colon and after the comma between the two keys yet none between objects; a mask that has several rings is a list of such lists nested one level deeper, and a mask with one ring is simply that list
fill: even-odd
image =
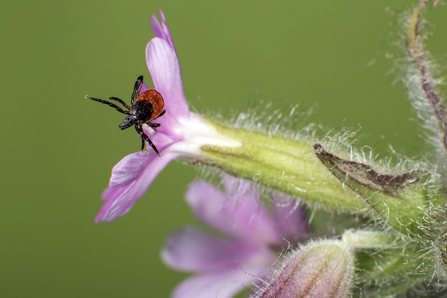
[{"label": "black and orange-red tick with outstretched legs on the petal", "polygon": [[94,98],[90,96],[85,96],[85,98],[98,101],[99,103],[105,103],[110,107],[115,108],[118,112],[128,115],[124,119],[122,124],[119,124],[119,128],[126,129],[131,126],[135,126],[135,131],[141,137],[141,151],[145,149],[145,141],[154,149],[155,153],[160,156],[159,150],[156,149],[154,143],[149,139],[149,137],[142,130],[142,125],[147,124],[149,127],[159,127],[160,124],[152,122],[153,120],[163,116],[166,110],[163,109],[165,103],[163,96],[154,89],[149,89],[140,94],[140,89],[142,87],[142,75],[137,78],[135,86],[133,87],[131,106],[127,105],[121,98],[110,96],[108,99],[116,100],[117,102],[124,105],[127,110],[123,110],[121,107],[115,105],[115,103],[110,103],[110,101],[103,100],[101,98]]}]

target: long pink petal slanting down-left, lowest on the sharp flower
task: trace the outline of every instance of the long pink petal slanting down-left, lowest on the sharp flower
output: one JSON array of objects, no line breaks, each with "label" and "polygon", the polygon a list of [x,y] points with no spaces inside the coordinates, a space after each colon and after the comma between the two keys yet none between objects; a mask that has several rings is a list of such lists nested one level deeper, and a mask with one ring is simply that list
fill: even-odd
[{"label": "long pink petal slanting down-left, lowest on the sharp flower", "polygon": [[96,222],[115,221],[119,216],[126,214],[147,191],[159,172],[178,156],[177,153],[164,149],[160,150],[161,158],[154,153],[150,154],[154,157],[150,158],[145,169],[131,184],[119,188],[109,188],[103,193],[106,202],[96,216]]}]

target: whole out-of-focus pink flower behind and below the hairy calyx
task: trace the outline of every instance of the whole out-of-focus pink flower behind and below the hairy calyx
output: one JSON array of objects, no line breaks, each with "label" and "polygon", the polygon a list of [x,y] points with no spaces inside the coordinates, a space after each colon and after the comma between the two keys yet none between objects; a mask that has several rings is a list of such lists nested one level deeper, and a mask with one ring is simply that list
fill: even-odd
[{"label": "whole out-of-focus pink flower behind and below the hairy calyx", "polygon": [[233,297],[266,276],[281,246],[309,233],[296,200],[273,195],[274,206],[268,210],[260,202],[261,192],[248,181],[227,177],[224,184],[226,191],[201,181],[189,186],[186,200],[196,216],[228,237],[184,228],[168,238],[163,260],[196,272],[175,289],[175,298]]}]

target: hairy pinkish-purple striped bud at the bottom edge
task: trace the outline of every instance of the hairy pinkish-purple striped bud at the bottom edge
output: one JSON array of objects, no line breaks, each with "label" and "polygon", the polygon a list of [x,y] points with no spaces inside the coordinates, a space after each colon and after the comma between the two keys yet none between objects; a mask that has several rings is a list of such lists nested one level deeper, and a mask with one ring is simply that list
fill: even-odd
[{"label": "hairy pinkish-purple striped bud at the bottom edge", "polygon": [[347,297],[353,260],[353,253],[342,241],[307,244],[290,253],[269,285],[254,297]]}]

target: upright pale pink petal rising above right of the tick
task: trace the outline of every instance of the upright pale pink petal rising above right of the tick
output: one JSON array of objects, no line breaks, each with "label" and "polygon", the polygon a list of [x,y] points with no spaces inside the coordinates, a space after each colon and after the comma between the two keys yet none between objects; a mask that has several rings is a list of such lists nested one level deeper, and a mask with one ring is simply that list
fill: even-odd
[{"label": "upright pale pink petal rising above right of the tick", "polygon": [[157,131],[169,133],[179,117],[189,117],[177,55],[166,40],[153,38],[146,47],[146,61],[155,89],[165,101],[166,114],[157,119],[161,124]]}]

